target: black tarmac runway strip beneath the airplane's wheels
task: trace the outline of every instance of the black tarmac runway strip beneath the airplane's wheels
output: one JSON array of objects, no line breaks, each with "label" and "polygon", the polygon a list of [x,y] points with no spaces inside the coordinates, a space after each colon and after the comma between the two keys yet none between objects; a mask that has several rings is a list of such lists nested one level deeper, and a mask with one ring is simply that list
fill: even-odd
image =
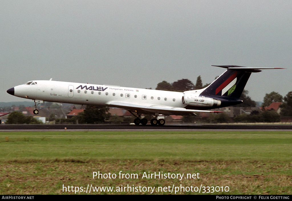
[{"label": "black tarmac runway strip beneath the airplane's wheels", "polygon": [[7,130],[291,130],[292,125],[278,124],[187,124],[187,125],[128,125],[128,124],[0,124]]}]

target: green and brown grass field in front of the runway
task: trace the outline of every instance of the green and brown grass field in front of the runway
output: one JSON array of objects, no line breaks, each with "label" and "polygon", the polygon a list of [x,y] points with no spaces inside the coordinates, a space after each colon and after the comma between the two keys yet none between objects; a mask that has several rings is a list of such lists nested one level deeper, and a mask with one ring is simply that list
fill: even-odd
[{"label": "green and brown grass field in front of the runway", "polygon": [[0,194],[291,194],[291,145],[291,131],[0,132]]}]

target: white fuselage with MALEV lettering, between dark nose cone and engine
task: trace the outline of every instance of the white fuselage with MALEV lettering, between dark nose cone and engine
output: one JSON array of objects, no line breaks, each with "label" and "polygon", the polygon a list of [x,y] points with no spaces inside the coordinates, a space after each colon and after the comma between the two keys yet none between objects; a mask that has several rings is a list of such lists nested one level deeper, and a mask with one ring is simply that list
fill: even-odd
[{"label": "white fuselage with MALEV lettering, between dark nose cone and engine", "polygon": [[182,97],[185,95],[182,92],[46,80],[31,82],[36,84],[15,86],[14,96],[48,102],[101,106],[108,106],[113,101],[173,108],[186,106],[182,103]]}]

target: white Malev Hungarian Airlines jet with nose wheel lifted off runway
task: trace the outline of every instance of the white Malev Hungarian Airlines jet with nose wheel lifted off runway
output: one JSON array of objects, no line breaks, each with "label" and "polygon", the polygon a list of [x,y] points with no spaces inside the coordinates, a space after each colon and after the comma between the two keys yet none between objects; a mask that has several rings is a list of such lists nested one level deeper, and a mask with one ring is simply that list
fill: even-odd
[{"label": "white Malev Hungarian Airlines jet with nose wheel lifted off runway", "polygon": [[[213,65],[215,66],[215,65]],[[253,72],[260,69],[235,65],[218,65],[227,70],[204,89],[175,92],[152,89],[128,88],[113,85],[84,84],[35,80],[15,86],[7,93],[34,100],[34,114],[37,105],[47,102],[73,103],[82,105],[100,105],[123,108],[135,116],[134,124],[146,125],[148,120],[142,114],[151,115],[151,125],[164,125],[165,120],[159,115],[196,115],[195,112],[212,112],[211,109],[237,105],[244,87]],[[38,103],[36,105],[36,103]],[[134,114],[136,113],[136,115]]]}]

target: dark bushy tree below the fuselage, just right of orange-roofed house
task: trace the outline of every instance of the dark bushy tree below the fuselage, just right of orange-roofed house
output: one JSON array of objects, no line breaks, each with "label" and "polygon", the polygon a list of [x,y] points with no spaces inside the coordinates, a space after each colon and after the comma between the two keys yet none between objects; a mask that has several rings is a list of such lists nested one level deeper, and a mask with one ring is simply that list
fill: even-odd
[{"label": "dark bushy tree below the fuselage, just right of orange-roofed house", "polygon": [[109,120],[109,108],[96,105],[87,105],[85,110],[78,115],[80,124],[98,124]]}]

